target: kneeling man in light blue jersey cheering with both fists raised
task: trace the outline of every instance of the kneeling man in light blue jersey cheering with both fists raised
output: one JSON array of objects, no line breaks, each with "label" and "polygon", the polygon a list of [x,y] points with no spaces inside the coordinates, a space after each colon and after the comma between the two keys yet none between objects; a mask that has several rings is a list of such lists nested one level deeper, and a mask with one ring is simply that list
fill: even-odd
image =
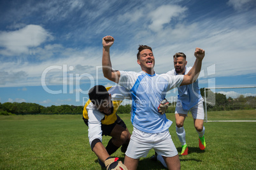
[{"label": "kneeling man in light blue jersey cheering with both fists raised", "polygon": [[103,74],[110,81],[128,89],[132,95],[131,122],[134,126],[131,140],[125,152],[124,164],[127,169],[138,167],[139,158],[146,157],[150,149],[162,155],[168,169],[180,169],[180,159],[174,146],[169,127],[172,122],[166,114],[157,110],[167,91],[191,84],[201,70],[204,50],[196,48],[196,62],[187,75],[155,74],[155,58],[152,48],[139,46],[137,63],[141,72],[113,70],[110,60],[110,47],[115,39],[103,37]]}]

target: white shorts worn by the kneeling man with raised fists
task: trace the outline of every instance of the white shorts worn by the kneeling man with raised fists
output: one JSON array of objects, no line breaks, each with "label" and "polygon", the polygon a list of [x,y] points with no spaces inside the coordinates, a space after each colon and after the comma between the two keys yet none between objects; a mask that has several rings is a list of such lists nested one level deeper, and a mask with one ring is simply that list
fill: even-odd
[{"label": "white shorts worn by the kneeling man with raised fists", "polygon": [[146,157],[152,148],[158,155],[165,157],[178,155],[169,130],[162,133],[145,133],[136,128],[133,128],[131,140],[129,141],[125,155],[132,159],[139,159]]}]

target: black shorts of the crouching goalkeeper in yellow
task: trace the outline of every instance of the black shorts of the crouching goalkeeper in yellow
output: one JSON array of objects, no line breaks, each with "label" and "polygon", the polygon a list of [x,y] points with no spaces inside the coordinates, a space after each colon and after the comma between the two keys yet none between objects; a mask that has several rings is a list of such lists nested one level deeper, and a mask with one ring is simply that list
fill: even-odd
[{"label": "black shorts of the crouching goalkeeper in yellow", "polygon": [[[85,119],[83,117],[83,121],[85,122],[85,124],[88,126],[88,119]],[[117,115],[117,121],[115,121],[113,124],[101,124],[101,131],[103,131],[103,135],[107,136],[110,135],[111,131],[115,128],[115,125],[119,124],[120,126],[122,126],[123,128],[126,129],[126,125],[124,123],[124,121]]]}]

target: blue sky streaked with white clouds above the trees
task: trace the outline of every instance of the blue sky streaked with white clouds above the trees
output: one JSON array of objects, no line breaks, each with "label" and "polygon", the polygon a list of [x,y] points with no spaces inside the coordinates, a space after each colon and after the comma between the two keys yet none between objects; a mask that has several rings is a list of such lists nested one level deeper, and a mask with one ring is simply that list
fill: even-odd
[{"label": "blue sky streaked with white clouds above the trees", "polygon": [[255,0],[2,0],[0,16],[1,103],[83,105],[92,86],[113,85],[101,70],[109,35],[116,70],[140,71],[139,44],[153,48],[157,74],[180,51],[192,66],[199,47],[201,88],[256,85]]}]

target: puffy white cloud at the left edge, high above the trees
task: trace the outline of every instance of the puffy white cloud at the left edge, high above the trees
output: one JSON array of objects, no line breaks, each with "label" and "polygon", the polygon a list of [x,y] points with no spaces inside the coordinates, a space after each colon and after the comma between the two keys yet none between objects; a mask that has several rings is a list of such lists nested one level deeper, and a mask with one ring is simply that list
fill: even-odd
[{"label": "puffy white cloud at the left edge, high above the trees", "polygon": [[35,48],[52,36],[39,25],[27,25],[15,31],[0,32],[0,51],[2,55],[29,54],[29,48]]}]

